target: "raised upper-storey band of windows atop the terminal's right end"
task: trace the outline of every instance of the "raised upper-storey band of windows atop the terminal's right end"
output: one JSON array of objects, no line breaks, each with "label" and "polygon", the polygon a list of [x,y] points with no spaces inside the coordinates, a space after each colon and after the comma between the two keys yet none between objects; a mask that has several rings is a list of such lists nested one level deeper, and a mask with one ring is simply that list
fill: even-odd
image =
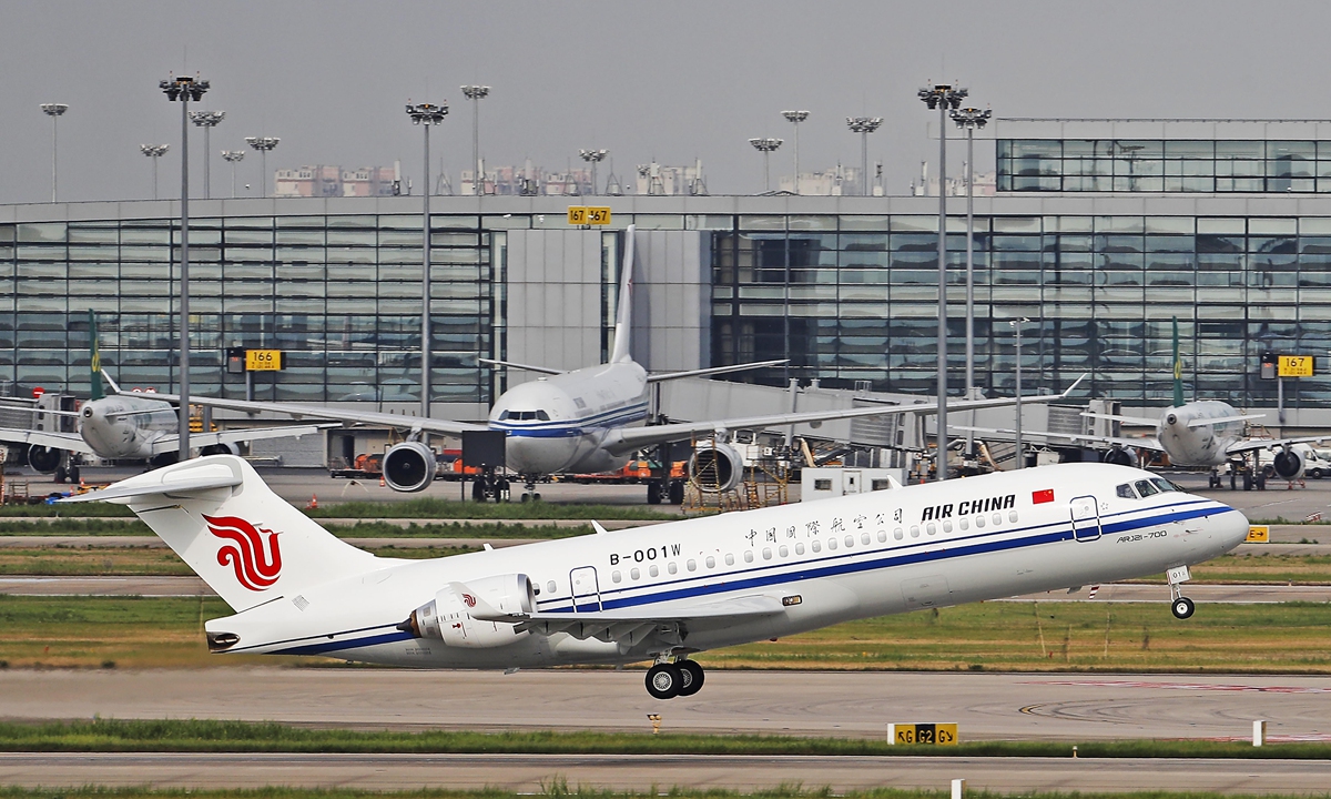
[{"label": "raised upper-storey band of windows atop the terminal's right end", "polygon": [[1000,192],[1331,192],[1331,141],[1000,138]]}]

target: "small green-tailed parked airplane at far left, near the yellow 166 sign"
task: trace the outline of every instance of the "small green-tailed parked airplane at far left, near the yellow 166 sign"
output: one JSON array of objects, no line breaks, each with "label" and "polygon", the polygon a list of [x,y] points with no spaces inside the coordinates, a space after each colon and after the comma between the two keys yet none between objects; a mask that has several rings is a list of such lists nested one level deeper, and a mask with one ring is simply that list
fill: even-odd
[{"label": "small green-tailed parked airplane at far left, near the yellow 166 sign", "polygon": [[[77,411],[28,407],[35,415],[67,415],[77,419],[79,433],[61,433],[21,427],[0,427],[0,441],[28,445],[28,465],[43,473],[55,473],[79,482],[79,466],[63,465],[63,453],[96,455],[105,459],[145,459],[154,466],[172,462],[180,449],[180,415],[174,405],[153,394],[121,393],[120,386],[101,369],[97,345],[97,320],[88,312],[88,348],[92,354],[92,389],[88,402]],[[110,386],[110,396],[102,381]],[[232,453],[242,441],[290,438],[317,433],[317,425],[218,430],[192,433],[190,447],[205,455]],[[64,482],[60,479],[60,482]]]}]

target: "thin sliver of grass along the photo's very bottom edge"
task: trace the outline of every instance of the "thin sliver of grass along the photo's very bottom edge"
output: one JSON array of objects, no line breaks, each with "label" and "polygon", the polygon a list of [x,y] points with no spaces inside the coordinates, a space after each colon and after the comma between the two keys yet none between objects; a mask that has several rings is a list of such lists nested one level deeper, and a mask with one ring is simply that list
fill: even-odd
[{"label": "thin sliver of grass along the photo's very bottom edge", "polygon": [[[940,780],[942,782],[942,780]],[[77,788],[24,788],[17,786],[0,787],[0,799],[520,799],[524,796],[548,796],[551,799],[948,799],[949,790],[928,788],[872,788],[868,791],[847,791],[833,794],[829,787],[805,788],[803,784],[780,784],[756,791],[732,791],[727,788],[680,788],[652,786],[648,791],[612,791],[587,786],[570,786],[562,776],[542,780],[535,794],[508,791],[504,788],[482,788],[465,791],[457,788],[425,788],[415,791],[366,791],[357,788],[294,788],[269,786],[264,788],[197,790],[197,788],[146,788],[146,787],[101,787],[83,786]],[[1016,794],[1021,799],[1327,799],[1331,794],[1218,794],[1213,791],[1024,791]],[[968,790],[970,799],[1012,799],[1014,794],[1005,791]]]}]

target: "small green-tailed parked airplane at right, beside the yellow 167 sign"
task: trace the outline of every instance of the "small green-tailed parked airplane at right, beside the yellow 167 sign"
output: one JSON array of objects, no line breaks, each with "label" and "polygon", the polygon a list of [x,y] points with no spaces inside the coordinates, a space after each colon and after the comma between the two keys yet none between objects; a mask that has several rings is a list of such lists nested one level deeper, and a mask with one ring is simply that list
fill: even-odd
[{"label": "small green-tailed parked airplane at right, beside the yellow 167 sign", "polygon": [[[1134,449],[1145,449],[1169,455],[1175,466],[1206,466],[1211,469],[1210,487],[1221,487],[1219,466],[1234,459],[1242,459],[1258,450],[1279,450],[1271,461],[1271,469],[1279,477],[1295,481],[1303,477],[1307,463],[1298,443],[1326,441],[1326,435],[1302,438],[1250,438],[1244,433],[1244,422],[1264,418],[1266,414],[1242,414],[1229,402],[1218,400],[1183,400],[1183,360],[1178,349],[1178,320],[1174,320],[1174,402],[1161,411],[1159,418],[1130,417],[1121,414],[1083,413],[1083,417],[1126,422],[1130,425],[1150,425],[1155,427],[1154,438],[1126,438],[1117,435],[1063,434],[1029,431],[1026,435],[1069,443],[1106,443],[1110,446],[1102,459],[1106,463],[1123,466],[1137,465]],[[986,427],[960,427],[981,433],[1012,434],[1012,430]],[[1244,487],[1251,487],[1251,475],[1244,474]]]}]

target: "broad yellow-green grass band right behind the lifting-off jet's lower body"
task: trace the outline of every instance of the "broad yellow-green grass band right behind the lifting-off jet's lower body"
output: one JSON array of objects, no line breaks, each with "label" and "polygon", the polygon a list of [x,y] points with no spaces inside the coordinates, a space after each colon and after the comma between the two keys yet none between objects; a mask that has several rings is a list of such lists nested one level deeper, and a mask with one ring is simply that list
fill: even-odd
[{"label": "broad yellow-green grass band right behind the lifting-off jet's lower body", "polygon": [[[406,553],[394,553],[406,554]],[[329,665],[319,658],[209,655],[216,598],[0,595],[0,662],[12,667]],[[996,670],[1032,672],[1331,674],[1331,605],[989,602],[836,625],[707,651],[711,668]]]}]

